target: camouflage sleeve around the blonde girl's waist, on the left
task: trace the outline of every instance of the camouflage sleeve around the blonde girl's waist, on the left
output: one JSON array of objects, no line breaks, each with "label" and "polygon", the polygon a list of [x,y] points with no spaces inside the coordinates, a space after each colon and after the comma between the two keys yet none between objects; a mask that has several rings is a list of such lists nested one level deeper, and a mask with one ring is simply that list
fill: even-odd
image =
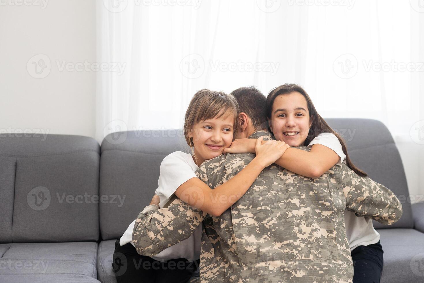
[{"label": "camouflage sleeve around the blonde girl's waist, on the left", "polygon": [[206,213],[175,198],[168,207],[139,213],[133,243],[140,255],[153,256],[189,238]]}]

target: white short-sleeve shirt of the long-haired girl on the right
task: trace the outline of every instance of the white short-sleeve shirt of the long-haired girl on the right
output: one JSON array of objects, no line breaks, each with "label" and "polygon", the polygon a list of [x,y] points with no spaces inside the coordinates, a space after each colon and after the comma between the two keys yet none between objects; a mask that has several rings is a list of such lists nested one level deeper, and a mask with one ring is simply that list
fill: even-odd
[{"label": "white short-sleeve shirt of the long-haired girl on the right", "polygon": [[[343,153],[342,145],[340,141],[333,133],[322,133],[318,137],[315,137],[312,142],[308,145],[311,148],[314,144],[322,144],[323,146],[332,149],[340,157],[338,165],[346,159],[346,155]],[[345,210],[345,227],[346,236],[349,241],[350,250],[358,246],[368,246],[375,244],[380,240],[380,234],[374,229],[372,221],[368,217],[357,217],[355,213]]]}]

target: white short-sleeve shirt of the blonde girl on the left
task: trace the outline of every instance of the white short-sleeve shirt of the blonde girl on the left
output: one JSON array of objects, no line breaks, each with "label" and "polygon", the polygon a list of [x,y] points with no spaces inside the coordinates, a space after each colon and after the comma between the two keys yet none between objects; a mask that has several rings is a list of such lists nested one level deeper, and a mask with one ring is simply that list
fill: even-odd
[{"label": "white short-sleeve shirt of the blonde girl on the left", "polygon": [[[167,203],[181,184],[193,177],[197,178],[195,171],[198,168],[194,163],[192,155],[182,151],[175,151],[162,160],[158,188],[155,191],[159,196],[160,208]],[[132,239],[134,224],[135,220],[131,222],[120,238],[119,244],[121,246],[127,243],[134,246]],[[198,260],[200,258],[201,237],[201,226],[199,226],[190,238],[164,249],[151,258],[157,261],[168,261],[172,258],[186,258],[188,261]]]}]

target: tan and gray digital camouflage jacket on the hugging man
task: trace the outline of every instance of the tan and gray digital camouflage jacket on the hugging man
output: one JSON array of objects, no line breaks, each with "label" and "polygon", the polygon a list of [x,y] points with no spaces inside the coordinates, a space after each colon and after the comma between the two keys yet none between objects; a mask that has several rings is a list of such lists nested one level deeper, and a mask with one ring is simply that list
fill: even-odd
[{"label": "tan and gray digital camouflage jacket on the hugging man", "polygon": [[[265,131],[251,137],[261,135],[271,138]],[[215,188],[253,158],[221,155],[204,162],[196,174]],[[201,282],[351,282],[345,209],[388,225],[402,216],[402,205],[388,188],[358,176],[345,163],[319,178],[271,165],[221,216],[176,199],[167,208],[140,213],[133,240],[139,254],[153,256],[190,237],[202,223]]]}]

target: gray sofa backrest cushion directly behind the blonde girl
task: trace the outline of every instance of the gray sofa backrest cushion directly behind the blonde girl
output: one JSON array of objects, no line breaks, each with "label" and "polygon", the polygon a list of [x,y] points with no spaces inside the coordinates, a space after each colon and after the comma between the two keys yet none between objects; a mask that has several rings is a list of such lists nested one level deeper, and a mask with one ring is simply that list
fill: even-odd
[{"label": "gray sofa backrest cushion directly behind the blonde girl", "polygon": [[103,240],[120,237],[148,205],[158,188],[160,164],[174,151],[190,152],[181,130],[115,132],[103,139],[100,156],[100,202]]}]

